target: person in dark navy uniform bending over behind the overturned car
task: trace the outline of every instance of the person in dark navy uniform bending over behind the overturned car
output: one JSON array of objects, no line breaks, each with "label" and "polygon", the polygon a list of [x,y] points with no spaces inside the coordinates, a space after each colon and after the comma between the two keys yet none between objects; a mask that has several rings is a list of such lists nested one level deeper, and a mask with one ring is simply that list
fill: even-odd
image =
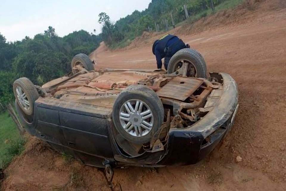
[{"label": "person in dark navy uniform bending over behind the overturned car", "polygon": [[171,57],[179,50],[186,48],[186,44],[177,36],[165,35],[153,44],[153,54],[156,56],[157,68],[162,68],[161,59],[164,58],[164,67],[167,70]]}]

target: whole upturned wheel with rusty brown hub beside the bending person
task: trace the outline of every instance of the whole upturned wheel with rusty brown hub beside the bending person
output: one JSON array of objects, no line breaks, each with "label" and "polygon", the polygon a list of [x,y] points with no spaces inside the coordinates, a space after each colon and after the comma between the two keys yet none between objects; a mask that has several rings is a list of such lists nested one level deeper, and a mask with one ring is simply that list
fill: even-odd
[{"label": "whole upturned wheel with rusty brown hub beside the bending person", "polygon": [[167,73],[174,73],[187,64],[187,77],[207,78],[206,62],[196,50],[184,48],[176,52],[168,64]]}]

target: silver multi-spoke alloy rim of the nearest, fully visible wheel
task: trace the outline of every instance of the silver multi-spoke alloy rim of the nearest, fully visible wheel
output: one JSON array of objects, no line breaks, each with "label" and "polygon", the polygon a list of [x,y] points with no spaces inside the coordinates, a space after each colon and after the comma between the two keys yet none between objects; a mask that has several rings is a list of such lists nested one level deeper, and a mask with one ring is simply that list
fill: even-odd
[{"label": "silver multi-spoke alloy rim of the nearest, fully visible wheel", "polygon": [[131,99],[122,104],[119,110],[119,121],[129,135],[142,137],[152,130],[154,115],[144,101]]}]

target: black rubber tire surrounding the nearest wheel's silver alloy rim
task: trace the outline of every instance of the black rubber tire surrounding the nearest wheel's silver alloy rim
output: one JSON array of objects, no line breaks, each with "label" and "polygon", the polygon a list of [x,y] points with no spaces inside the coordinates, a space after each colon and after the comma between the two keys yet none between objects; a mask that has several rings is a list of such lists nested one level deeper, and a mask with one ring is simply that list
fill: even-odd
[{"label": "black rubber tire surrounding the nearest wheel's silver alloy rim", "polygon": [[[129,100],[143,101],[153,113],[153,127],[150,132],[144,136],[130,135],[123,127],[119,119],[119,113],[123,104]],[[135,107],[134,107],[135,108]],[[143,85],[133,85],[123,90],[114,102],[112,118],[116,130],[126,140],[135,144],[144,144],[150,142],[154,135],[158,135],[158,131],[164,120],[164,107],[158,95],[150,88]],[[144,120],[143,120],[144,121]],[[133,125],[133,124],[132,124]],[[140,126],[140,125],[139,125]],[[141,126],[142,127],[142,126]],[[140,127],[140,128],[141,128]]]}]

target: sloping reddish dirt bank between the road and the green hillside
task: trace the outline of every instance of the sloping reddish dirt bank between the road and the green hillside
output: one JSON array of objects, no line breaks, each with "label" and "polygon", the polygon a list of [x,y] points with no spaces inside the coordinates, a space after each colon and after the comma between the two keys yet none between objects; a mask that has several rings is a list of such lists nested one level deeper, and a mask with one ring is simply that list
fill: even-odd
[{"label": "sloping reddish dirt bank between the road and the green hillside", "polygon": [[[187,21],[182,26],[176,27],[167,32],[144,32],[142,36],[135,38],[127,47],[121,50],[150,46],[164,34],[191,35],[205,30],[224,28],[228,25],[238,26],[250,23],[253,18],[265,16],[269,11],[286,8],[285,0],[245,0],[245,2],[234,9],[221,10],[213,15],[203,17],[198,21]],[[120,50],[120,49],[119,49]]]}]

